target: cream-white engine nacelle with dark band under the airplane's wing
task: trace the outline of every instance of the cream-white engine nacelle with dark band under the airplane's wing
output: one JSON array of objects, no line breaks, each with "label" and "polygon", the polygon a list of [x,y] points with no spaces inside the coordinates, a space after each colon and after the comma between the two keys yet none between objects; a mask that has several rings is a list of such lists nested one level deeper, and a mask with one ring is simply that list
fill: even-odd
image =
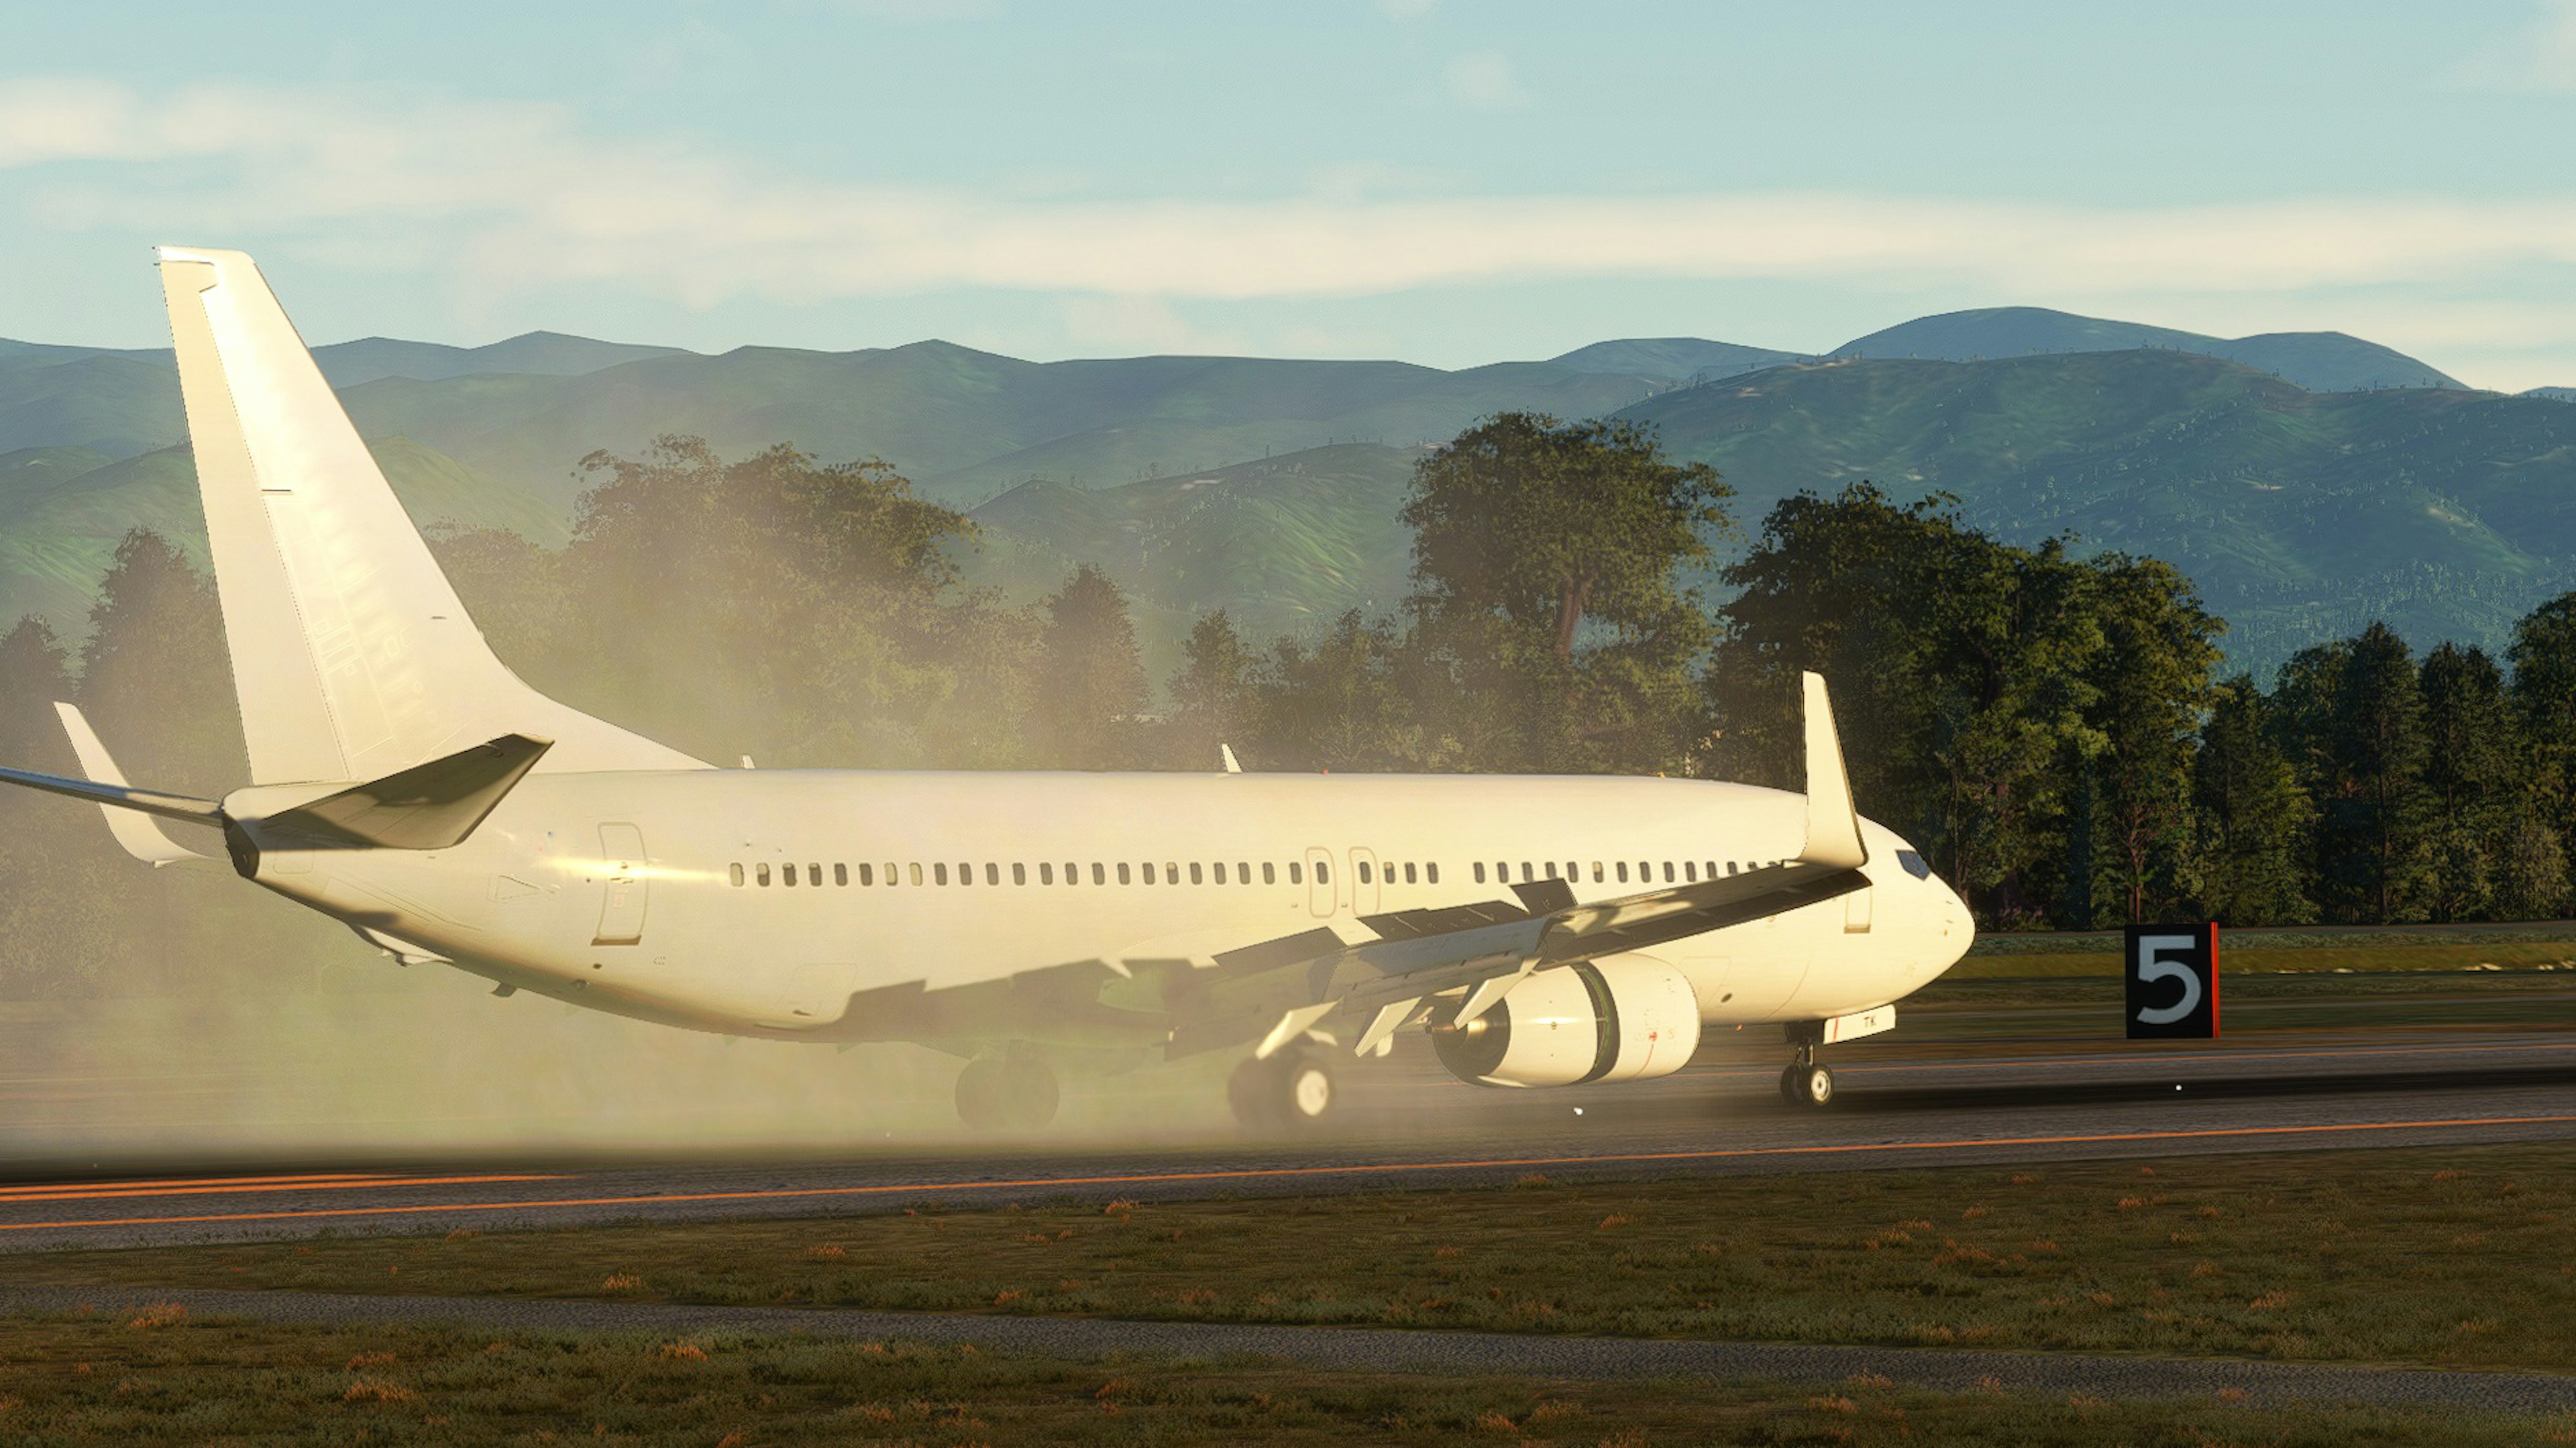
[{"label": "cream-white engine nacelle with dark band under the airplane's wing", "polygon": [[1700,997],[1654,956],[1538,971],[1466,1025],[1435,1025],[1440,1064],[1479,1085],[1669,1077],[1700,1049]]}]

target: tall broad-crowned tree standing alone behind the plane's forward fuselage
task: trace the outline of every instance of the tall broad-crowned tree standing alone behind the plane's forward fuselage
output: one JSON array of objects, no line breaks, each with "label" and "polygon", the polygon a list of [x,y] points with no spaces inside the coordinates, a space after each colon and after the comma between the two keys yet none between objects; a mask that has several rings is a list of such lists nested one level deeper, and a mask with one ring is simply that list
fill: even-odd
[{"label": "tall broad-crowned tree standing alone behind the plane's forward fuselage", "polygon": [[1672,768],[1700,734],[1705,611],[1680,580],[1731,528],[1708,464],[1636,423],[1486,417],[1414,466],[1412,647],[1466,768]]}]

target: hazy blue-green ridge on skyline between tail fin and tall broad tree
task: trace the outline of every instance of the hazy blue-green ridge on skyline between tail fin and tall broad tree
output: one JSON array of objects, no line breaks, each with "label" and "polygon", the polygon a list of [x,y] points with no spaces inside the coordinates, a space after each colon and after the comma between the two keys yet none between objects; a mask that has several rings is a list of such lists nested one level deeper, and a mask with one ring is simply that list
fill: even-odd
[{"label": "hazy blue-green ridge on skyline between tail fin and tall broad tree", "polygon": [[739,348],[587,376],[384,379],[348,389],[366,433],[404,433],[569,508],[592,448],[693,433],[719,451],[796,443],[881,456],[927,497],[976,505],[1030,479],[1115,487],[1329,443],[1409,446],[1538,407],[1589,417],[1656,381],[1553,363],[1115,358],[1030,363],[953,343],[860,353]]}]

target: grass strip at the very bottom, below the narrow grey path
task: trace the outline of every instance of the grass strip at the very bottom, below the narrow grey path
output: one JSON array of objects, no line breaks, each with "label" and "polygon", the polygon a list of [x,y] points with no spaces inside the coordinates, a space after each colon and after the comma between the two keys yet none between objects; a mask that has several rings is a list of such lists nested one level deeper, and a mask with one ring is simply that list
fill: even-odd
[{"label": "grass strip at the very bottom, below the narrow grey path", "polygon": [[0,1438],[88,1443],[2571,1443],[2563,1417],[1066,1363],[907,1342],[0,1319]]}]

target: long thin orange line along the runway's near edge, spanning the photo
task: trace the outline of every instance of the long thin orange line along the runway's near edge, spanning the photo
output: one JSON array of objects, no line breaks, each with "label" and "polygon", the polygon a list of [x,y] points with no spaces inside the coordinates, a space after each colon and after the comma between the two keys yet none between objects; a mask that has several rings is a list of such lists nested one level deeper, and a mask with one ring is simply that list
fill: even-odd
[{"label": "long thin orange line along the runway's near edge, spanning the photo", "polygon": [[309,1216],[412,1216],[425,1211],[513,1211],[549,1206],[667,1206],[683,1201],[791,1201],[829,1196],[902,1196],[963,1190],[1108,1188],[1154,1183],[1242,1183],[1280,1177],[1347,1177],[1368,1172],[1450,1172],[1471,1167],[1615,1167],[1638,1162],[1723,1162],[1744,1157],[1850,1157],[1862,1152],[1958,1152],[1973,1147],[2087,1147],[2105,1141],[2213,1141],[2228,1136],[2321,1136],[2344,1131],[2429,1131],[2439,1126],[2566,1126],[2576,1116],[2460,1116],[2447,1121],[2342,1121],[2329,1126],[2215,1126],[2202,1131],[2105,1131],[2089,1136],[1989,1136],[1984,1141],[1850,1141],[1832,1147],[1736,1147],[1718,1152],[1636,1152],[1615,1157],[1497,1157],[1486,1162],[1358,1162],[1347,1167],[1242,1167],[1224,1172],[1139,1172],[1115,1177],[1025,1177],[1007,1183],[889,1183],[866,1188],[775,1188],[662,1196],[587,1196],[536,1201],[440,1201],[412,1206],[327,1206],[304,1211],[227,1211],[211,1216],[111,1216],[95,1221],[0,1221],[0,1232],[62,1232],[77,1226],[188,1226],[209,1221],[294,1221]]}]

